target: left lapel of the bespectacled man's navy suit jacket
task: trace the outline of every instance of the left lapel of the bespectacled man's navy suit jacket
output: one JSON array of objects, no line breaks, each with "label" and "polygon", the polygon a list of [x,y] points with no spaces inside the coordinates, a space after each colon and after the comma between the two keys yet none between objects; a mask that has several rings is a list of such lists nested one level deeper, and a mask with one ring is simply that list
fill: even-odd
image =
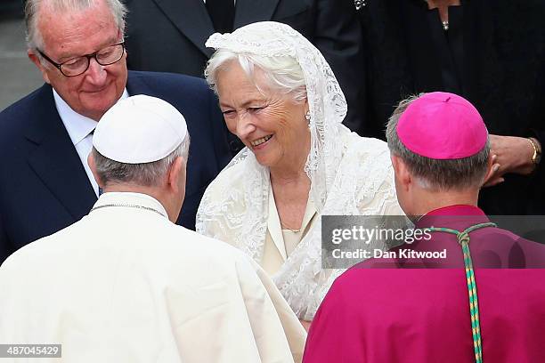
[{"label": "left lapel of the bespectacled man's navy suit jacket", "polygon": [[28,164],[69,214],[79,220],[89,213],[96,195],[55,108],[51,86],[44,85],[38,97],[38,108],[44,113],[37,116],[27,133],[28,140],[37,144],[28,155]]}]

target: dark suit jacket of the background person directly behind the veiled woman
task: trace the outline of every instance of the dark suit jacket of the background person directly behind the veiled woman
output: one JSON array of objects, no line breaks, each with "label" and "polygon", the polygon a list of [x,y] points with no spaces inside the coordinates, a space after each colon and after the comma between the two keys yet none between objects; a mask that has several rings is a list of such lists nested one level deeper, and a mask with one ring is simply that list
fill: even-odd
[{"label": "dark suit jacket of the background person directly behind the veiled woman", "polygon": [[[203,77],[214,28],[203,0],[127,0],[129,69]],[[289,24],[329,61],[346,100],[345,125],[362,129],[362,36],[352,0],[236,0],[234,28],[256,21]]]}]

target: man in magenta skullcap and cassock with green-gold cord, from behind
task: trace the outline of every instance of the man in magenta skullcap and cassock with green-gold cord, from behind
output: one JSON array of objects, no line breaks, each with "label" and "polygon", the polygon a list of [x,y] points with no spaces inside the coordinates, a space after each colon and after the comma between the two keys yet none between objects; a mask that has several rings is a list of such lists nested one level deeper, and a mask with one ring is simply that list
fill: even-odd
[{"label": "man in magenta skullcap and cassock with green-gold cord, from behind", "polygon": [[[427,93],[400,103],[386,136],[399,203],[431,238],[340,276],[304,362],[543,361],[545,246],[476,206],[492,169],[483,118],[460,96]],[[408,248],[446,253],[405,258]]]}]

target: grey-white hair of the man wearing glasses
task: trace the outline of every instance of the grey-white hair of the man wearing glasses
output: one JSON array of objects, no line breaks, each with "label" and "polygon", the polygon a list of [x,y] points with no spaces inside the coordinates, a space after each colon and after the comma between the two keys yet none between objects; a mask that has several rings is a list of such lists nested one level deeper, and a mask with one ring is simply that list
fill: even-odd
[{"label": "grey-white hair of the man wearing glasses", "polygon": [[44,39],[37,26],[37,15],[42,5],[51,6],[55,12],[69,12],[89,9],[101,1],[110,9],[121,34],[125,34],[126,6],[119,0],[27,0],[25,4],[25,23],[27,26],[28,48],[41,48],[41,50],[44,50]]}]

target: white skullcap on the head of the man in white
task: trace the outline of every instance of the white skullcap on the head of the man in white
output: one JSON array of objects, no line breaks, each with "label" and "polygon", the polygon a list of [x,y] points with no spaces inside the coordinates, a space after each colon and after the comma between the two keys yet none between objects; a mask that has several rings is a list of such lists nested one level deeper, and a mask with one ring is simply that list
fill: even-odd
[{"label": "white skullcap on the head of the man in white", "polygon": [[139,94],[118,101],[102,116],[93,146],[119,163],[150,163],[167,157],[186,135],[185,119],[174,106]]}]

